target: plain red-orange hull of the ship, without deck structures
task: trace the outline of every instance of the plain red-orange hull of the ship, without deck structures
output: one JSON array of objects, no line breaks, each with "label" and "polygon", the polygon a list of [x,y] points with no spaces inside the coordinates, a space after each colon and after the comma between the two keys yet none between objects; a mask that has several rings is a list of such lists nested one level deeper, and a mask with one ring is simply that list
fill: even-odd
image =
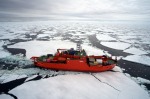
[{"label": "plain red-orange hull of the ship, without deck structures", "polygon": [[54,70],[67,70],[67,71],[82,71],[82,72],[102,72],[113,69],[116,64],[103,66],[101,64],[90,66],[84,59],[67,60],[66,63],[49,63],[42,61],[35,61],[35,66],[42,68],[49,68]]}]

